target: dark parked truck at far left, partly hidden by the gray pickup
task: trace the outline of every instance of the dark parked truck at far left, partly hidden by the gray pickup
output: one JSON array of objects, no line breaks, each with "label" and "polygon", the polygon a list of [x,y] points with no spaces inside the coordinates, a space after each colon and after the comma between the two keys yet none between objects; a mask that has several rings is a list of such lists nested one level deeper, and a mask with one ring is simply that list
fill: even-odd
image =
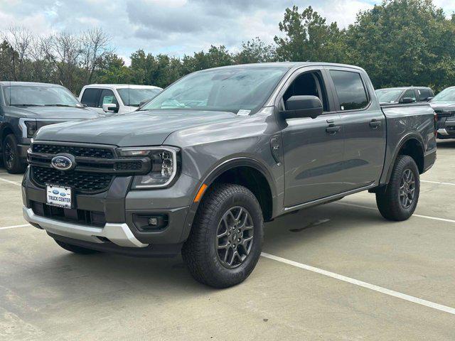
[{"label": "dark parked truck at far left, partly hidden by the gray pickup", "polygon": [[0,82],[0,155],[6,171],[25,171],[30,139],[42,126],[95,117],[61,85]]}]

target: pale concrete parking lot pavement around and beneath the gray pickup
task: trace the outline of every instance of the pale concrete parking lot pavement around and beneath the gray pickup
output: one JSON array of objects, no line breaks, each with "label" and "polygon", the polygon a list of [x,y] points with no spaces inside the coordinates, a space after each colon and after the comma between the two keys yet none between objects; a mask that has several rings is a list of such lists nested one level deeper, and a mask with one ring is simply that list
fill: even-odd
[{"label": "pale concrete parking lot pavement around and beneath the gray pickup", "polygon": [[181,257],[60,249],[0,168],[0,340],[455,340],[455,141],[438,147],[410,220],[383,220],[369,193],[280,217],[225,290]]}]

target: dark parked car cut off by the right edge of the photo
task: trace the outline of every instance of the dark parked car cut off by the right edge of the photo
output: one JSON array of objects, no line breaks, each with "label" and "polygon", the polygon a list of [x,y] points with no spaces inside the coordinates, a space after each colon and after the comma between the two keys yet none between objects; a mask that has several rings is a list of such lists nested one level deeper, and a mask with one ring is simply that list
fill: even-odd
[{"label": "dark parked car cut off by the right edge of the photo", "polygon": [[448,87],[430,101],[438,115],[438,138],[455,139],[455,87]]}]

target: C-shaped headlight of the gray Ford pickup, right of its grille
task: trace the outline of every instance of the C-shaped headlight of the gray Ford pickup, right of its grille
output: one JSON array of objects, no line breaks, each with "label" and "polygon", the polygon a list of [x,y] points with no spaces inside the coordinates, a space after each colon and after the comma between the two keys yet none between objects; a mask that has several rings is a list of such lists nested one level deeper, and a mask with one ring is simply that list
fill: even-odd
[{"label": "C-shaped headlight of the gray Ford pickup, right of its grille", "polygon": [[119,156],[144,157],[151,159],[151,171],[146,175],[137,175],[133,180],[133,189],[163,188],[176,178],[179,166],[180,149],[174,147],[138,147],[119,148]]}]

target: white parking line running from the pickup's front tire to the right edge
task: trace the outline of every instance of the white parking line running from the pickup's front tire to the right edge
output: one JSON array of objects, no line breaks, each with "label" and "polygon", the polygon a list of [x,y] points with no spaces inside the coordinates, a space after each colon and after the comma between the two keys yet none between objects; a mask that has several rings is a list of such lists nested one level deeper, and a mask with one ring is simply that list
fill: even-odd
[{"label": "white parking line running from the pickup's front tire to the right edge", "polygon": [[393,290],[390,290],[390,289],[387,289],[387,288],[382,288],[381,286],[375,286],[374,284],[371,284],[371,283],[358,281],[355,278],[350,278],[350,277],[347,277],[347,276],[335,274],[335,273],[333,273],[331,271],[326,271],[326,270],[323,270],[323,269],[315,268],[314,266],[301,264],[301,263],[298,263],[296,261],[291,261],[289,259],[285,259],[285,258],[282,258],[282,257],[279,257],[279,256],[274,256],[273,254],[267,254],[265,252],[262,252],[261,256],[263,256],[265,258],[268,258],[268,259],[273,259],[274,261],[280,261],[280,262],[282,262],[284,264],[288,264],[288,265],[291,265],[291,266],[296,266],[297,268],[300,268],[300,269],[316,272],[316,274],[321,274],[321,275],[324,275],[324,276],[335,278],[335,279],[338,279],[339,281],[348,282],[348,283],[351,283],[351,284],[355,284],[356,286],[362,286],[363,288],[367,288],[367,289],[370,289],[370,290],[373,290],[373,291],[378,291],[378,293],[385,293],[385,295],[393,296],[393,297],[396,297],[396,298],[401,298],[402,300],[405,300],[405,301],[409,301],[409,302],[412,302],[412,303],[417,303],[417,304],[424,305],[424,306],[429,307],[429,308],[441,310],[441,311],[444,311],[446,313],[450,313],[450,314],[455,315],[455,308],[451,308],[451,307],[448,307],[446,305],[433,303],[433,302],[430,302],[430,301],[427,301],[427,300],[423,300],[422,298],[418,298],[418,297],[407,295],[405,293],[399,293],[398,291],[393,291]]}]

